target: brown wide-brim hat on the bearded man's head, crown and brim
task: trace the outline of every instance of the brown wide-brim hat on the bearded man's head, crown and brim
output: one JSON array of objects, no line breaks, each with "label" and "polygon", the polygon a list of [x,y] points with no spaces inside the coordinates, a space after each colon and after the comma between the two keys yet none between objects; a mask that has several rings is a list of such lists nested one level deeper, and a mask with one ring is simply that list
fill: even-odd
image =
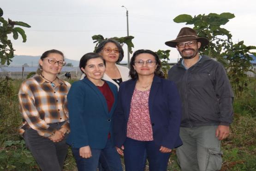
[{"label": "brown wide-brim hat on the bearded man's head, crown and brim", "polygon": [[169,47],[176,47],[177,43],[197,40],[201,42],[201,47],[208,45],[209,41],[205,37],[198,37],[196,31],[189,27],[183,27],[180,29],[179,34],[175,40],[167,41],[165,44]]}]

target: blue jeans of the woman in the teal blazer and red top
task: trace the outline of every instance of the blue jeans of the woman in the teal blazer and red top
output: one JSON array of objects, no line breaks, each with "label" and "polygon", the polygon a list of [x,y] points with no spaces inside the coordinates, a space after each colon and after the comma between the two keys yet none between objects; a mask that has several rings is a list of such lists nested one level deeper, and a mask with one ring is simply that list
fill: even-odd
[{"label": "blue jeans of the woman in the teal blazer and red top", "polygon": [[121,159],[115,147],[112,147],[111,140],[107,140],[106,147],[103,149],[91,148],[92,157],[85,159],[80,157],[79,148],[72,148],[73,155],[76,159],[78,171],[97,171],[100,155],[106,161],[109,171],[123,171]]}]

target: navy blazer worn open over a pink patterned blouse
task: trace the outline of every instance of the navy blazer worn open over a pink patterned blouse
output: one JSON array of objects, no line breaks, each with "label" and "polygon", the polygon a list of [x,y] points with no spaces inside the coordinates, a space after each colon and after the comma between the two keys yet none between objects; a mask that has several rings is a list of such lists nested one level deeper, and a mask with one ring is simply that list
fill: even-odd
[{"label": "navy blazer worn open over a pink patterned blouse", "polygon": [[[126,139],[131,97],[136,81],[123,82],[119,87],[118,104],[113,116],[114,141],[117,147],[121,147]],[[181,100],[174,82],[154,77],[149,92],[149,117],[153,139],[158,146],[174,148],[182,145],[179,137]]]}]

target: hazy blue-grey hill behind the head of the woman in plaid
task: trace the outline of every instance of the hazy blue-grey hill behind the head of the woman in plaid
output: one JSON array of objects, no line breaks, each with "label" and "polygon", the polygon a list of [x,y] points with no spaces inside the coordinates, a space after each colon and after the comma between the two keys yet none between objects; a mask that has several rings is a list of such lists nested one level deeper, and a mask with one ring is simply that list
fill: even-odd
[{"label": "hazy blue-grey hill behind the head of the woman in plaid", "polygon": [[[27,64],[29,66],[31,66],[31,65],[36,66],[36,65],[38,65],[39,59],[40,59],[40,56],[15,55],[12,58],[11,65]],[[79,66],[78,60],[72,60],[72,59],[65,58],[65,62],[71,63],[73,66]]]}]

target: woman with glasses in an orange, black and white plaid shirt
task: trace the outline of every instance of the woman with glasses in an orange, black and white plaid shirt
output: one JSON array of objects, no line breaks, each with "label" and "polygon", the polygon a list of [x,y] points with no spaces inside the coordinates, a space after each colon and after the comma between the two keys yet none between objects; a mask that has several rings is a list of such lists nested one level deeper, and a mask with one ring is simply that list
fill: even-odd
[{"label": "woman with glasses in an orange, black and white plaid shirt", "polygon": [[41,73],[25,80],[18,93],[23,117],[19,132],[42,171],[61,171],[68,149],[66,96],[71,85],[57,77],[64,65],[62,52],[44,52]]}]

